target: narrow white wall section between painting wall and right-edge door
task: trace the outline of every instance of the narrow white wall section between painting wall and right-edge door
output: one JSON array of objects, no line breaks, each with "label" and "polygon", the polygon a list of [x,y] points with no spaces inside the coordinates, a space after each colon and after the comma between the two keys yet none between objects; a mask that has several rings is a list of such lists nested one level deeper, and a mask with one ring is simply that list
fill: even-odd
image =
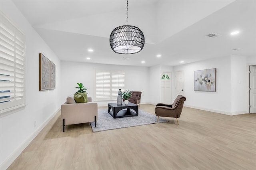
[{"label": "narrow white wall section between painting wall and right-edge door", "polygon": [[247,65],[246,57],[232,55],[231,59],[231,112],[247,113]]}]

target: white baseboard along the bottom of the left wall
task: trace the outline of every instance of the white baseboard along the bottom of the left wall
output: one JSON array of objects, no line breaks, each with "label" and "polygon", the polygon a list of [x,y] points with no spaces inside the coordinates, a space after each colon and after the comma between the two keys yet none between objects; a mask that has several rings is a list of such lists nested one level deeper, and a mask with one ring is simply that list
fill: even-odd
[{"label": "white baseboard along the bottom of the left wall", "polygon": [[60,108],[54,112],[42,125],[40,125],[2,164],[0,170],[6,170],[12,162],[21,154],[21,152],[32,142],[32,140],[41,132],[41,130],[50,122],[50,120],[60,111]]}]

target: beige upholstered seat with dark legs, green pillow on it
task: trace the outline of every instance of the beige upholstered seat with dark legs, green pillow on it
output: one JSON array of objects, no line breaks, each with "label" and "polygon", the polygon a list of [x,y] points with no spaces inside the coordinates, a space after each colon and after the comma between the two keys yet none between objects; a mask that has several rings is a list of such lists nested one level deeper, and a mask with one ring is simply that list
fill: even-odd
[{"label": "beige upholstered seat with dark legs, green pillow on it", "polygon": [[74,94],[67,97],[67,101],[61,105],[61,119],[63,120],[63,132],[65,125],[89,123],[98,120],[98,104],[88,97],[88,103],[76,103]]}]

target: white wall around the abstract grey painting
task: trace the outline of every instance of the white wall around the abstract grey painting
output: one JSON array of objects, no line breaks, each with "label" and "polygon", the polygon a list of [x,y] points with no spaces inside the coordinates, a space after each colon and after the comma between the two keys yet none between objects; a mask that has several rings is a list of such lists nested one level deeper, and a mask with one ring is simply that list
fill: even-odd
[{"label": "white wall around the abstract grey painting", "polygon": [[[194,91],[194,71],[216,68],[216,92]],[[184,71],[184,106],[232,115],[231,56],[174,67]]]}]

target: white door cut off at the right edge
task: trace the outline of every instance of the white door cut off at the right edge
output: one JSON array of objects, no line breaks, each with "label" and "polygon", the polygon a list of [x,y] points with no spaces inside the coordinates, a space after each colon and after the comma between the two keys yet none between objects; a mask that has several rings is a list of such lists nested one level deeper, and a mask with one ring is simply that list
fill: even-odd
[{"label": "white door cut off at the right edge", "polygon": [[256,113],[256,65],[250,66],[250,113]]}]

